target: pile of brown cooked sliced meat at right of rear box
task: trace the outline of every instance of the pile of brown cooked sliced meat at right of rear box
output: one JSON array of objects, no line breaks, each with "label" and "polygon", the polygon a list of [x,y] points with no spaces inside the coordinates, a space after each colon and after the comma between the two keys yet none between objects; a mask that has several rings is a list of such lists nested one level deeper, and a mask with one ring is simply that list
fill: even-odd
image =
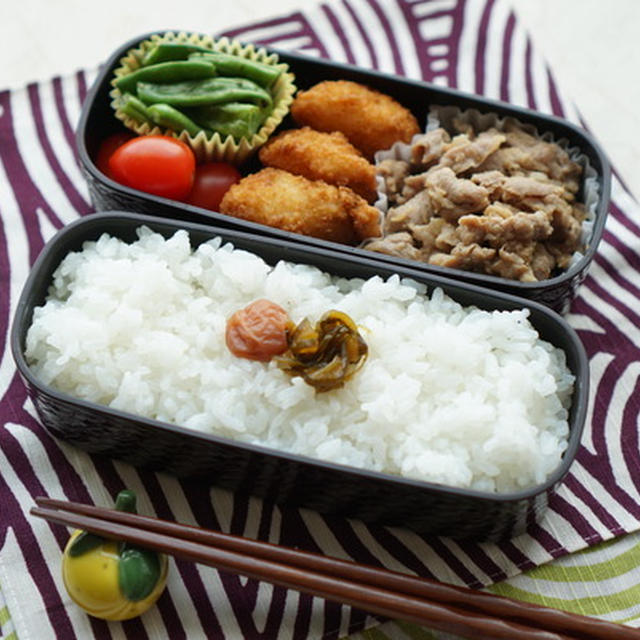
[{"label": "pile of brown cooked sliced meat at right of rear box", "polygon": [[581,167],[513,124],[476,135],[458,123],[414,140],[409,162],[385,161],[386,238],[368,248],[530,282],[565,269],[581,249]]}]

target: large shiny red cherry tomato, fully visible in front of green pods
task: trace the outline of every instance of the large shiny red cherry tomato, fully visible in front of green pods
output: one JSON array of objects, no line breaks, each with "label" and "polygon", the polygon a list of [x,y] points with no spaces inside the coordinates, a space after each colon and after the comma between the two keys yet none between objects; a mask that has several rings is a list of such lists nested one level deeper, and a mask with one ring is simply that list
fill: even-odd
[{"label": "large shiny red cherry tomato, fully visible in front of green pods", "polygon": [[109,159],[109,171],[116,182],[172,200],[189,195],[195,168],[193,151],[170,136],[133,138]]}]

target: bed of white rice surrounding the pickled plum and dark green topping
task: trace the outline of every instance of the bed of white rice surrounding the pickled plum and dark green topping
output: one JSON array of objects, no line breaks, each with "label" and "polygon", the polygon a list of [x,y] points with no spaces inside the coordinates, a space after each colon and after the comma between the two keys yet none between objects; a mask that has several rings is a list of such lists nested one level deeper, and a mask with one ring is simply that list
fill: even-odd
[{"label": "bed of white rice surrounding the pickled plum and dark green topping", "polygon": [[[26,357],[110,407],[335,463],[488,492],[543,482],[566,449],[573,376],[526,310],[463,308],[392,276],[341,279],[186,232],[103,235],[66,256]],[[225,322],[258,298],[294,322],[348,313],[369,346],[342,389],[234,357]]]}]

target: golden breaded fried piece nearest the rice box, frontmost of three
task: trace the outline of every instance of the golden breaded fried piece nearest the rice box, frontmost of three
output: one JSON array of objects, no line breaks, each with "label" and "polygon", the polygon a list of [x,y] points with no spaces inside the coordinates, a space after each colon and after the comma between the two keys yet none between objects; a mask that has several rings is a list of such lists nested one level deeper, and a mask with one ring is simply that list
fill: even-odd
[{"label": "golden breaded fried piece nearest the rice box, frontmost of three", "polygon": [[232,185],[220,203],[220,211],[345,244],[380,235],[380,212],[351,189],[273,167]]}]

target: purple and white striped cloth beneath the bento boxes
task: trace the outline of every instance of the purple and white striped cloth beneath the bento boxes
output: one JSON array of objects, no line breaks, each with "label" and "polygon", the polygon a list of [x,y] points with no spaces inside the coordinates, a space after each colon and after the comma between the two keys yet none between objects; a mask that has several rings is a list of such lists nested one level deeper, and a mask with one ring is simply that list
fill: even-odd
[{"label": "purple and white striped cloth beneath the bento boxes", "polygon": [[[224,35],[580,122],[506,0],[336,0]],[[525,535],[500,545],[462,544],[272,508],[50,438],[16,375],[8,327],[44,243],[91,211],[73,131],[94,76],[82,71],[0,93],[0,585],[21,640],[338,638],[378,624],[349,607],[183,562],[172,562],[168,589],[145,616],[123,624],[91,619],[70,603],[60,580],[67,533],[28,515],[36,495],[109,504],[129,487],[145,513],[473,587],[639,528],[640,208],[617,178],[599,254],[568,316],[591,362],[583,446],[547,516]],[[529,583],[509,584],[522,595]]]}]

